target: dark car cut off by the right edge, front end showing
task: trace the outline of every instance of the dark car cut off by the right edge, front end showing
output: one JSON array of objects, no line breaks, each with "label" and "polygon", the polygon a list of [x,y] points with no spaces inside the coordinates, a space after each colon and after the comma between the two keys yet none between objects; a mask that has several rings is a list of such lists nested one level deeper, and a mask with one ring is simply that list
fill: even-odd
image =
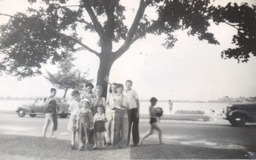
[{"label": "dark car cut off by the right edge, front end showing", "polygon": [[227,106],[224,119],[235,127],[242,127],[246,122],[256,122],[256,103],[231,103]]}]

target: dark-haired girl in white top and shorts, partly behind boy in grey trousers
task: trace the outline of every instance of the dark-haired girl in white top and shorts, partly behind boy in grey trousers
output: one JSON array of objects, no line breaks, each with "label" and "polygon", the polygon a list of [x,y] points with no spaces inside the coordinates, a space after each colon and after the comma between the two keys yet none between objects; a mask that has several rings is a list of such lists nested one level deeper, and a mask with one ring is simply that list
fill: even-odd
[{"label": "dark-haired girl in white top and shorts, partly behind boy in grey trousers", "polygon": [[109,93],[107,96],[106,100],[106,117],[108,120],[107,123],[107,144],[106,145],[111,145],[111,125],[112,121],[114,120],[115,117],[115,108],[116,108],[116,102],[115,99],[117,99],[116,94],[117,94],[117,83],[112,83],[112,85],[109,88]]}]

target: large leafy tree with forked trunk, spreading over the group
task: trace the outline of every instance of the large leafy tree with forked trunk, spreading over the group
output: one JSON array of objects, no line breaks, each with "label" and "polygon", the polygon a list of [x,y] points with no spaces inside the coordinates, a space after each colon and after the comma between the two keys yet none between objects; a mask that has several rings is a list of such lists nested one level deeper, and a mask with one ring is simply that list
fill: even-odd
[{"label": "large leafy tree with forked trunk, spreading over the group", "polygon": [[[38,0],[28,0],[31,4]],[[210,20],[216,24],[226,23],[237,29],[233,43],[237,48],[222,51],[222,58],[235,58],[247,62],[249,54],[256,55],[256,7],[246,3],[238,6],[228,3],[225,7],[215,7],[212,0],[139,0],[135,18],[129,29],[124,24],[125,6],[119,0],[73,0],[75,6],[67,6],[72,0],[41,0],[46,7],[28,8],[27,13],[6,15],[11,17],[1,26],[0,51],[5,58],[0,62],[2,71],[9,74],[28,77],[41,74],[41,66],[50,59],[51,63],[60,61],[64,55],[58,54],[59,48],[71,48],[71,51],[88,50],[100,59],[97,85],[105,89],[104,76],[129,47],[146,34],[161,35],[167,38],[163,43],[172,48],[177,41],[173,33],[178,29],[187,29],[188,35],[210,44],[219,44],[213,33],[208,32]],[[158,17],[148,18],[144,12],[147,7],[156,11]],[[98,35],[97,44],[101,50],[93,50],[84,43],[77,29],[82,27]],[[88,37],[86,38],[89,39]],[[122,43],[118,50],[112,50],[113,43]],[[80,47],[76,48],[75,44]]]}]

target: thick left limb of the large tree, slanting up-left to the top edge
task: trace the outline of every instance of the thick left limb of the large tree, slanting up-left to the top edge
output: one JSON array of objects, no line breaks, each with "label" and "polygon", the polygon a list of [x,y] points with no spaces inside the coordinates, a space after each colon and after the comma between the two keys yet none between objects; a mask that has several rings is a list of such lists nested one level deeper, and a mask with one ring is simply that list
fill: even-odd
[{"label": "thick left limb of the large tree, slanting up-left to the top edge", "polygon": [[99,37],[101,38],[104,34],[104,30],[101,26],[101,24],[99,23],[96,15],[94,14],[93,10],[92,10],[92,6],[90,5],[89,0],[83,0],[84,2],[84,7],[88,13],[88,15],[90,16],[92,23],[94,25],[95,30],[97,31]]}]

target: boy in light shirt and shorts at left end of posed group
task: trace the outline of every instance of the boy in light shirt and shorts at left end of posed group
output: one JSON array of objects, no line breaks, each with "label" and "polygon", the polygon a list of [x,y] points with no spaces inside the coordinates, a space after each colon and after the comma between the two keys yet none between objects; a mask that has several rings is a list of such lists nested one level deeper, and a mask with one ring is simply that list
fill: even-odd
[{"label": "boy in light shirt and shorts at left end of posed group", "polygon": [[77,127],[77,116],[78,116],[78,111],[80,108],[82,108],[81,104],[81,98],[80,98],[80,93],[78,90],[73,90],[71,93],[71,96],[73,97],[74,101],[73,103],[69,106],[69,112],[70,112],[70,117],[69,117],[69,123],[67,125],[67,129],[71,131],[71,147],[70,150],[75,149],[75,135],[76,135],[76,127]]}]

